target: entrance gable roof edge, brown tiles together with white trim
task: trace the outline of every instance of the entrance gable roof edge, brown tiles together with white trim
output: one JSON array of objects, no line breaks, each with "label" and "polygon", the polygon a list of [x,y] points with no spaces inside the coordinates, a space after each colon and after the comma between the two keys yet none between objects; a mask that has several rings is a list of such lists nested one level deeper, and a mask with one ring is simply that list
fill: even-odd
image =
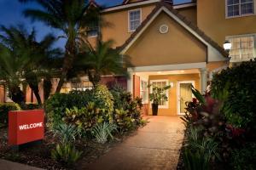
[{"label": "entrance gable roof edge, brown tiles together with white trim", "polygon": [[191,32],[197,39],[207,45],[207,47],[215,48],[219,54],[223,57],[228,58],[229,54],[224,51],[224,48],[220,47],[217,42],[214,42],[212,38],[208,37],[203,31],[201,31],[197,26],[195,26],[191,21],[187,20],[183,15],[178,14],[177,10],[172,8],[169,3],[160,2],[154,10],[148,14],[148,17],[143,20],[141,26],[137,28],[131,34],[125,43],[119,47],[119,50],[124,53],[128,48],[131,47],[133,42],[137,40],[138,37],[143,33],[147,26],[154,20],[154,18],[160,14],[161,11],[168,13],[174,20],[176,20],[180,25],[182,25],[187,31]]}]

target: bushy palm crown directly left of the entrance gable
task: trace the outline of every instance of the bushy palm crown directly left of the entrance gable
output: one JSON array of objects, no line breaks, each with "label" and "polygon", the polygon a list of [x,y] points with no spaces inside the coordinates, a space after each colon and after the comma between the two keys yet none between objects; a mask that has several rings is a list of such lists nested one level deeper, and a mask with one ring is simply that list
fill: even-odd
[{"label": "bushy palm crown directly left of the entrance gable", "polygon": [[102,42],[98,39],[96,48],[91,48],[87,42],[81,44],[81,53],[75,60],[75,65],[84,68],[94,87],[101,81],[102,75],[128,77],[126,68],[131,65],[129,57],[119,54],[119,50],[112,47],[112,40]]}]

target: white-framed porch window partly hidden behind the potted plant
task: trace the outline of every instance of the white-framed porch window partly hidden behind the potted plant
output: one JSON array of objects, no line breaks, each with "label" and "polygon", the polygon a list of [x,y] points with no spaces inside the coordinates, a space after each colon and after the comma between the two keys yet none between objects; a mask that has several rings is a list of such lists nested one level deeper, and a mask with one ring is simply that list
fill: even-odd
[{"label": "white-framed porch window partly hidden behind the potted plant", "polygon": [[[152,84],[152,86],[150,87],[150,93],[152,93],[152,87],[157,87],[157,88],[165,88],[166,86],[168,86],[168,80],[151,80],[150,84]],[[169,90],[165,91],[166,96],[168,98],[168,94],[169,94]],[[160,108],[168,108],[168,101],[165,101],[164,99],[160,100],[160,104],[159,104]]]}]

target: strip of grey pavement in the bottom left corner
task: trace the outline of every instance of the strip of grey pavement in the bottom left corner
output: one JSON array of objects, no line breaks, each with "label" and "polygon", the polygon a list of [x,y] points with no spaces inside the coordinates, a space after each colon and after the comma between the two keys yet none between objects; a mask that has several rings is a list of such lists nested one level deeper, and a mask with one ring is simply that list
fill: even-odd
[{"label": "strip of grey pavement in the bottom left corner", "polygon": [[6,161],[0,159],[1,170],[43,170],[38,167],[30,167],[13,161]]}]

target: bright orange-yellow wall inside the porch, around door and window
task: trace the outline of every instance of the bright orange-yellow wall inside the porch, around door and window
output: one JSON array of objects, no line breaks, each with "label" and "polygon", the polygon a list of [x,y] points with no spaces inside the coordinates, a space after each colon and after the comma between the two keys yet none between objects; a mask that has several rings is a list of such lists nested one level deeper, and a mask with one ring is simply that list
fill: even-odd
[{"label": "bright orange-yellow wall inside the porch, around door and window", "polygon": [[[195,88],[200,89],[200,76],[199,74],[149,76],[149,82],[150,80],[162,80],[162,79],[167,79],[169,82],[173,82],[174,87],[168,90],[169,108],[159,109],[158,115],[159,116],[177,116],[177,82],[178,81],[195,81]],[[148,105],[148,114],[152,115],[150,105]]]}]

